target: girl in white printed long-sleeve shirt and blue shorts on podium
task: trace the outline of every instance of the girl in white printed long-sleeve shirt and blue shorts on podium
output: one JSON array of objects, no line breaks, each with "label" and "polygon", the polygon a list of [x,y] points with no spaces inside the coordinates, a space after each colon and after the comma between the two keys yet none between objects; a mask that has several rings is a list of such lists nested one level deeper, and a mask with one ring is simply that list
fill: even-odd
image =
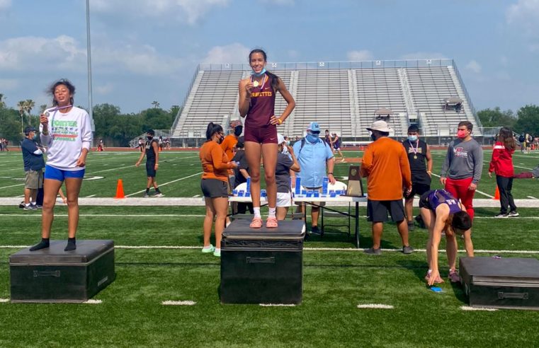
[{"label": "girl in white printed long-sleeve shirt and blue shorts on podium", "polygon": [[68,240],[65,251],[75,250],[79,225],[79,192],[92,141],[91,121],[86,110],[73,106],[75,86],[66,79],[50,87],[52,108],[40,115],[41,143],[48,148],[43,181],[41,241],[30,251],[49,248],[50,228],[58,190],[65,182]]}]

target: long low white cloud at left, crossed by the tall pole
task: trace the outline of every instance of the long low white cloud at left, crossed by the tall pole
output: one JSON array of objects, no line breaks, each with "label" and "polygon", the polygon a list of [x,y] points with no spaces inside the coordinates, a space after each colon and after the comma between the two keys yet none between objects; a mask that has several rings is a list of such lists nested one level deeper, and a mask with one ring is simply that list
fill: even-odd
[{"label": "long low white cloud at left, crossed by the tall pole", "polygon": [[[149,45],[94,45],[92,64],[101,71],[153,76],[178,71],[181,60]],[[73,37],[15,37],[0,41],[0,71],[86,71],[86,45]]]}]

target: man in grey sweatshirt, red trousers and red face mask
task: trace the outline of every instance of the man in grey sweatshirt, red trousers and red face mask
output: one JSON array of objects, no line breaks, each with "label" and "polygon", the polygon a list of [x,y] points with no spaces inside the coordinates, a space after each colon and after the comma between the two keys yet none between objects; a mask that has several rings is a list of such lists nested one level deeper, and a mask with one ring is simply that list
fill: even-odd
[{"label": "man in grey sweatshirt, red trousers and red face mask", "polygon": [[453,197],[460,199],[473,220],[473,197],[483,171],[483,150],[472,138],[472,129],[471,122],[459,122],[458,139],[449,143],[440,182]]}]

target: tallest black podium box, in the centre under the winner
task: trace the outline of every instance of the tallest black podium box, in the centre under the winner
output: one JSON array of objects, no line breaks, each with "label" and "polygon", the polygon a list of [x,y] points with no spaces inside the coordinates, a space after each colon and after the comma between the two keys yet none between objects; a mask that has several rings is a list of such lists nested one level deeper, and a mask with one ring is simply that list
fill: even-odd
[{"label": "tallest black podium box, in the centre under the winner", "polygon": [[221,303],[301,303],[303,221],[256,229],[250,223],[237,219],[223,232]]}]

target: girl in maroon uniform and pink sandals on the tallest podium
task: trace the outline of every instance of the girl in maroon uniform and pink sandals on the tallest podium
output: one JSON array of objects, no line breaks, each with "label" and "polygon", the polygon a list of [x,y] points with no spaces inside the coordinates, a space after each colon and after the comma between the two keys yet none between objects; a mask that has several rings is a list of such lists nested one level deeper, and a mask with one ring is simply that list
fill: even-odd
[{"label": "girl in maroon uniform and pink sandals on the tallest podium", "polygon": [[[252,50],[249,53],[249,65],[252,74],[239,81],[239,115],[246,117],[244,127],[245,155],[251,170],[251,198],[254,207],[254,218],[251,228],[262,227],[260,214],[260,160],[264,166],[266,191],[268,192],[269,214],[266,227],[276,228],[277,185],[275,170],[277,166],[277,126],[283,124],[286,117],[295,108],[295,101],[286,89],[283,80],[266,71],[267,57],[263,50]],[[285,98],[283,113],[276,117],[275,98],[279,92]]]}]

